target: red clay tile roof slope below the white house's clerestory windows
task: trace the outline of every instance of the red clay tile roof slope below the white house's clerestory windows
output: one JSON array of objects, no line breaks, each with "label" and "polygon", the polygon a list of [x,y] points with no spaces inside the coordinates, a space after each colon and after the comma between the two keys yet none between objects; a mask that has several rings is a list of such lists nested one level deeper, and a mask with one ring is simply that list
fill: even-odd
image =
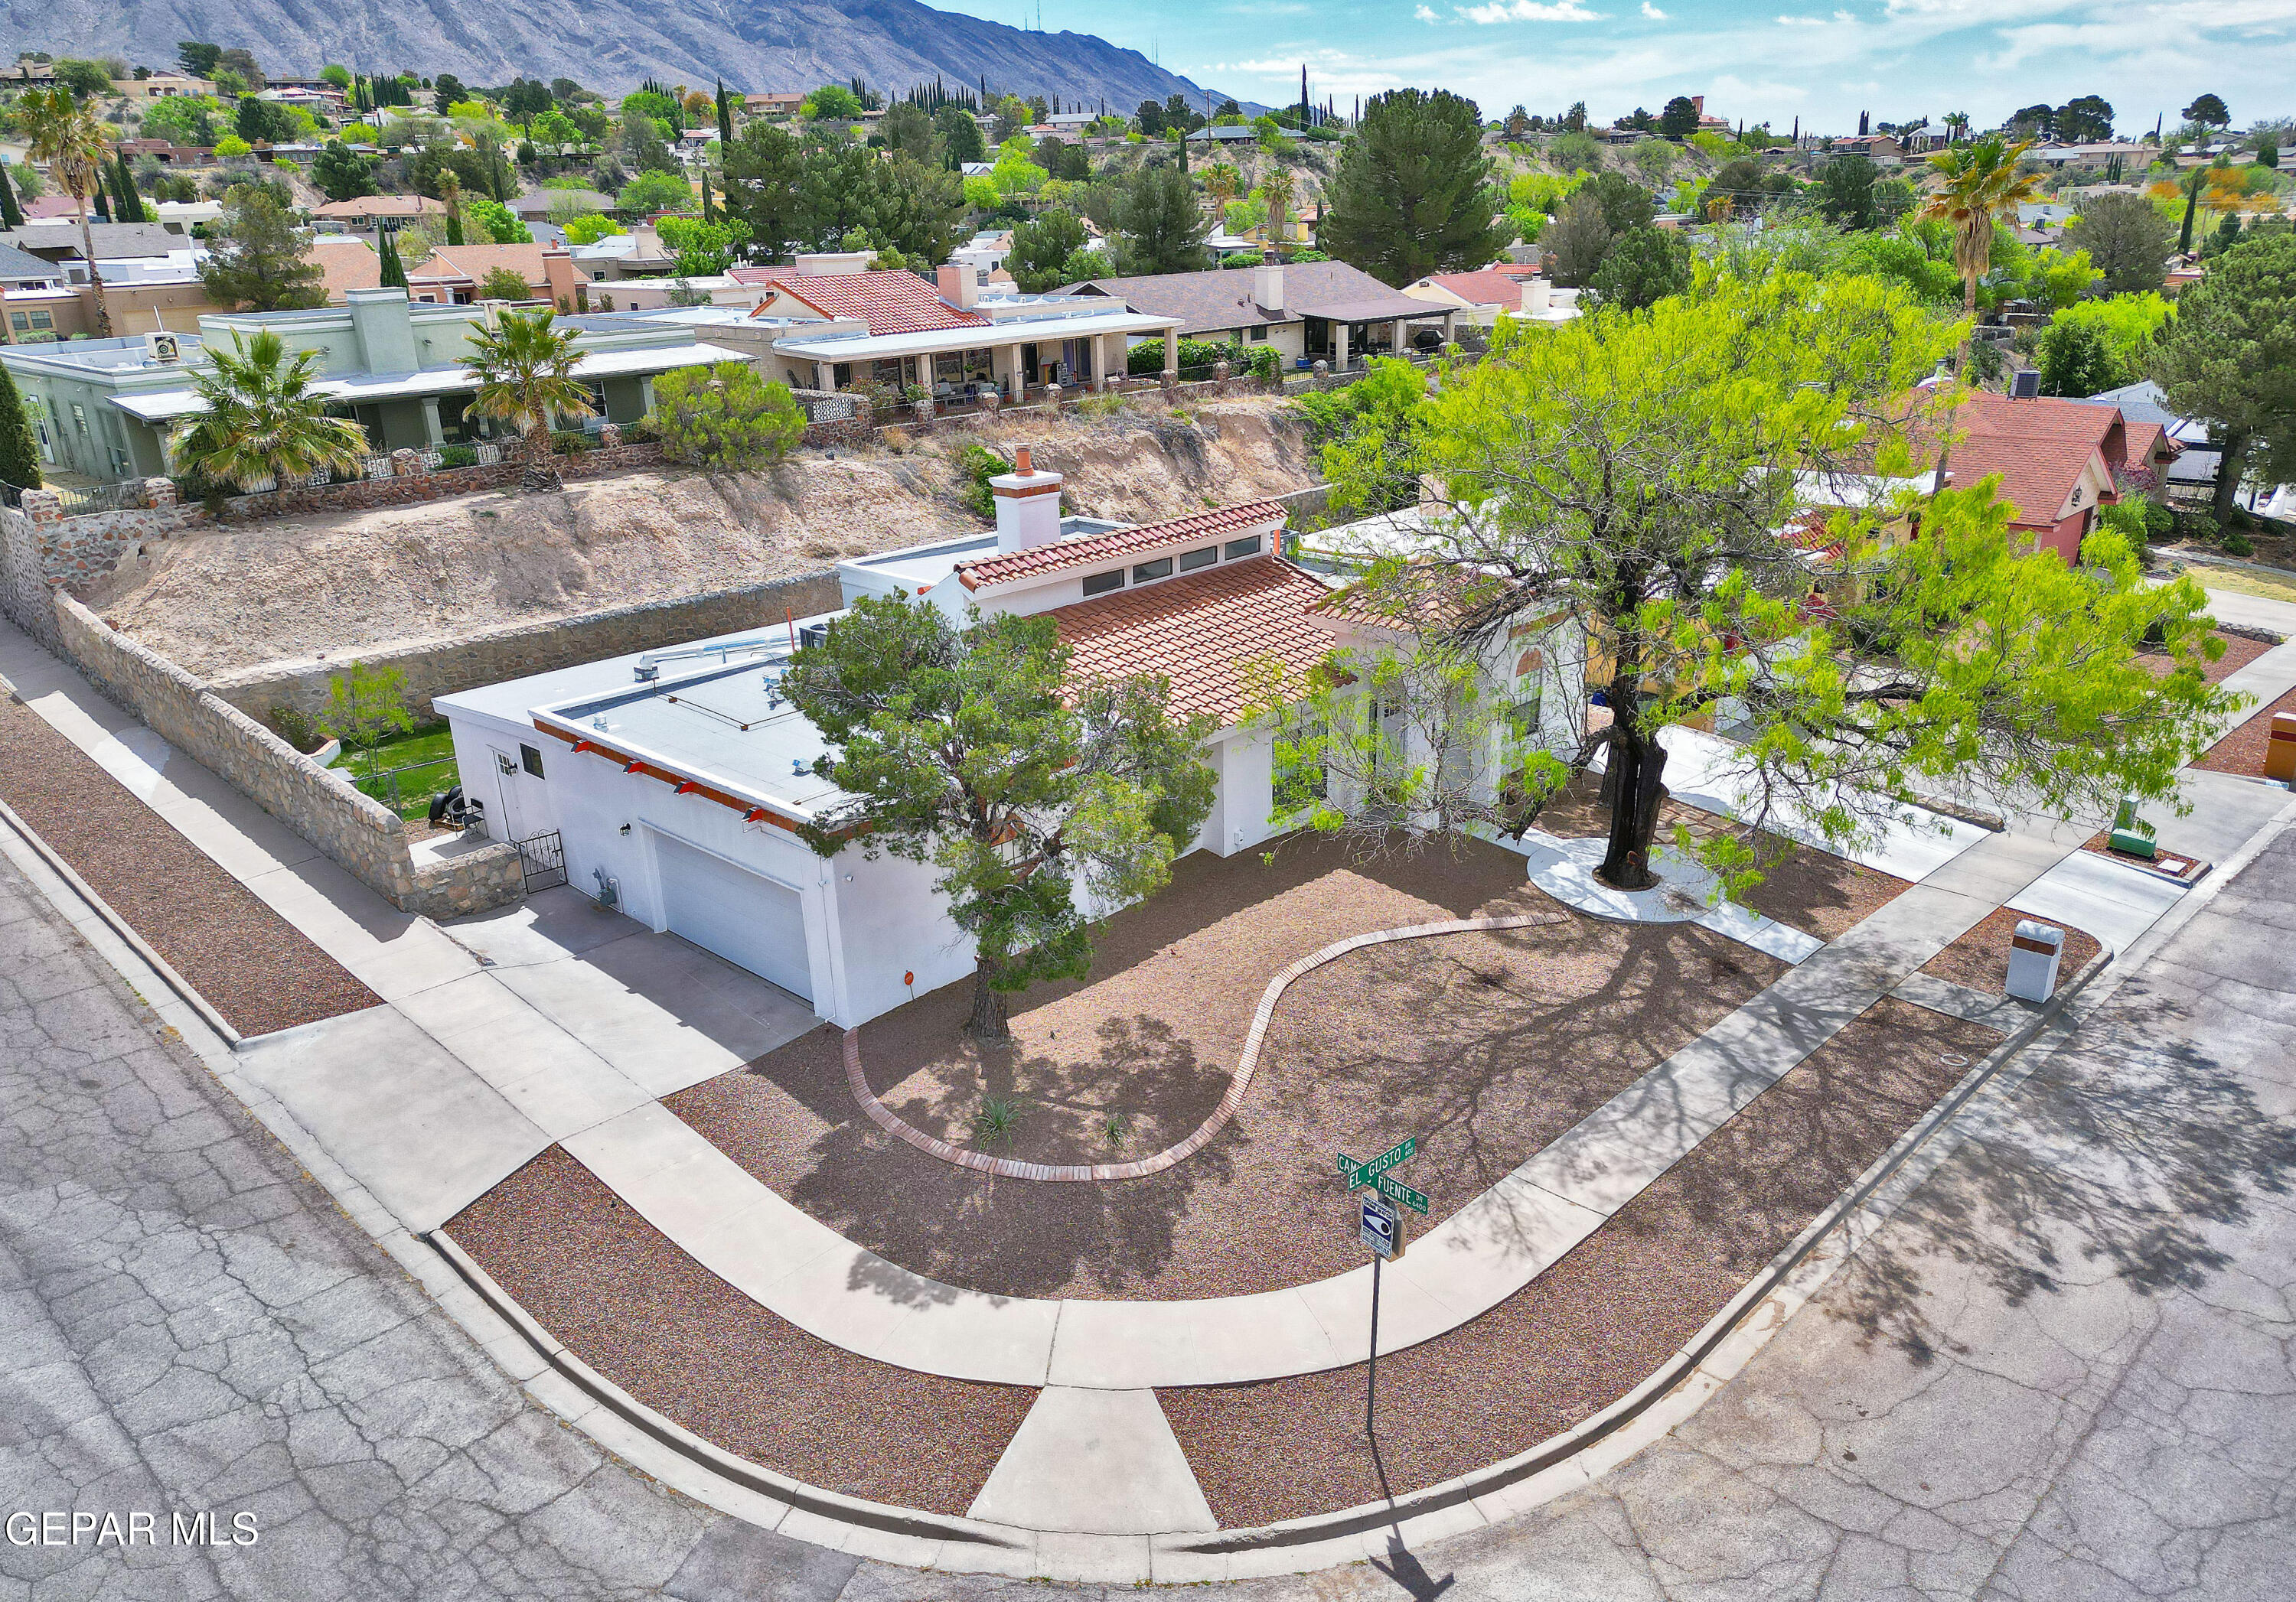
[{"label": "red clay tile roof slope below the white house's clerestory windows", "polygon": [[1332,636],[1306,615],[1325,594],[1313,574],[1256,555],[1061,606],[1047,617],[1070,652],[1072,677],[1162,672],[1176,714],[1203,711],[1226,725],[1244,711],[1244,663],[1272,656],[1297,686],[1329,654]]}]

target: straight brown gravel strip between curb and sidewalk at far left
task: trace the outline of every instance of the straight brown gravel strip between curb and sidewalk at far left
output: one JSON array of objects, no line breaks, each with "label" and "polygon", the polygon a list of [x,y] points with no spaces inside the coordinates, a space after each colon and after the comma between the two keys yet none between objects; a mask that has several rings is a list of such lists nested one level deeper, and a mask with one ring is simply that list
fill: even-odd
[{"label": "straight brown gravel strip between curb and sidewalk at far left", "polygon": [[30,707],[0,700],[0,801],[241,1035],[381,1003]]}]

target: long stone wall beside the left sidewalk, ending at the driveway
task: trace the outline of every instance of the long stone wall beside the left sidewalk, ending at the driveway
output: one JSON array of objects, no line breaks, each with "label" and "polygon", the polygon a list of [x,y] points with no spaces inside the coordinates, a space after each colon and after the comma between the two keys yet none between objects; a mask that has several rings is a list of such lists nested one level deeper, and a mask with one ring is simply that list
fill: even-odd
[{"label": "long stone wall beside the left sidewalk, ending at the driveway", "polygon": [[328,778],[317,762],[207,684],[115,633],[69,594],[55,597],[55,640],[96,689],[289,824],[400,911],[452,918],[505,907],[523,895],[526,879],[514,845],[498,842],[416,868],[406,849],[406,824],[397,812]]}]

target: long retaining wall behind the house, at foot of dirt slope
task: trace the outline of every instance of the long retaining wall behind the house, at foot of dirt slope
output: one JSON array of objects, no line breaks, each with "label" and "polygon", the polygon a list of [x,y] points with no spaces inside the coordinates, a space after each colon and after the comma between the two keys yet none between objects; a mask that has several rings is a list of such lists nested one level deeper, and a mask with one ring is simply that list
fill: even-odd
[{"label": "long retaining wall behind the house, at foot of dirt slope", "polygon": [[406,675],[406,705],[432,711],[432,698],[480,684],[521,679],[551,668],[574,668],[604,656],[689,645],[716,633],[765,629],[785,617],[810,617],[843,606],[833,571],[801,574],[742,590],[712,590],[670,601],[641,601],[581,617],[521,622],[457,640],[432,640],[377,652],[335,652],[328,661],[269,661],[225,672],[209,689],[255,718],[273,707],[315,716],[326,705],[333,675],[363,661]]}]

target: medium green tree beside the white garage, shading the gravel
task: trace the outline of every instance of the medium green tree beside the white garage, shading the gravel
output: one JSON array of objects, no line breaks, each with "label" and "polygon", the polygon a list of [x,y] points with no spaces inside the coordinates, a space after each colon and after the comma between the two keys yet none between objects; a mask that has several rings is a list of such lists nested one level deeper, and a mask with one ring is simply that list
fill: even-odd
[{"label": "medium green tree beside the white garage, shading the gravel", "polygon": [[980,1040],[1008,1037],[1010,994],[1084,978],[1088,913],[1162,888],[1212,808],[1210,721],[1173,716],[1162,677],[1075,684],[1049,617],[960,627],[863,597],[781,684],[829,744],[815,773],[850,796],[808,842],[937,870],[974,939]]}]

